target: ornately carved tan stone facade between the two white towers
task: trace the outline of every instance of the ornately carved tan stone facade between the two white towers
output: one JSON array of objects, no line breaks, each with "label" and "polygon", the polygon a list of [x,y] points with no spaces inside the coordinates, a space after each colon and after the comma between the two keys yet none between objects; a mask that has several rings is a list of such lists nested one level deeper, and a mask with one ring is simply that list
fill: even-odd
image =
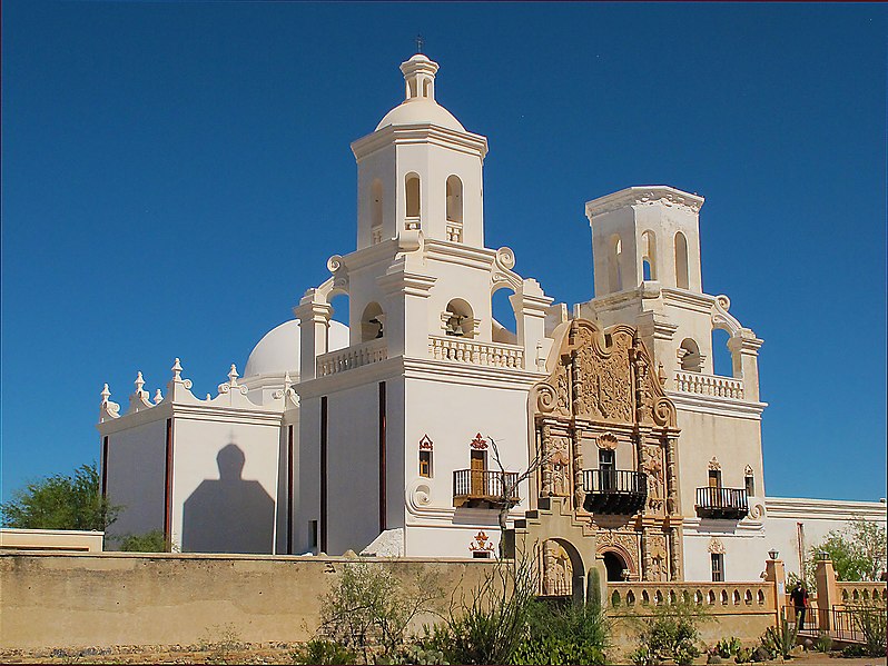
[{"label": "ornately carved tan stone facade between the two white towers", "polygon": [[[556,331],[547,367],[549,378],[531,391],[539,496],[572,498],[596,555],[622,566],[622,577],[681,580],[675,408],[637,330],[572,320]],[[590,509],[596,491],[629,500]],[[633,496],[643,499],[638,507]],[[550,585],[556,558],[546,550],[542,559]]]}]

